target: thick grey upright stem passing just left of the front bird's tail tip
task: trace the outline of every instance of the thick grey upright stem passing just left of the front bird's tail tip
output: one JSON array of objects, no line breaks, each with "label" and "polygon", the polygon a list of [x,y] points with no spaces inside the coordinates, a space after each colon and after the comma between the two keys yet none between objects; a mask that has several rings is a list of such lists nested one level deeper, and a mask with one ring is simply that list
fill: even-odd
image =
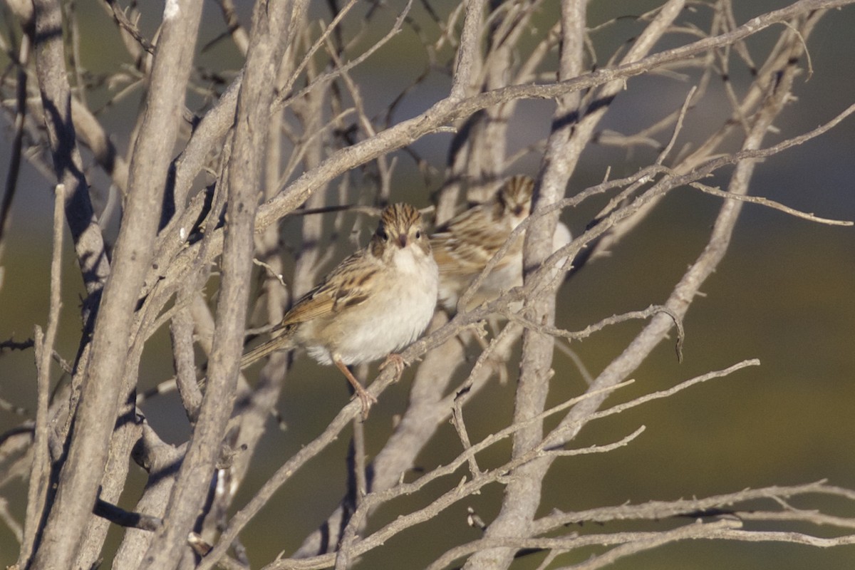
[{"label": "thick grey upright stem passing just left of the front bird's tail tip", "polygon": [[174,568],[188,532],[209,489],[221,442],[232,412],[246,302],[250,290],[253,220],[261,180],[262,149],[268,136],[267,115],[273,101],[270,77],[285,51],[290,4],[257,4],[250,47],[238,102],[235,138],[228,163],[227,236],[222,259],[222,281],[217,303],[214,342],[208,383],[190,445],[169,498],[162,531],[144,557],[142,568]]}]

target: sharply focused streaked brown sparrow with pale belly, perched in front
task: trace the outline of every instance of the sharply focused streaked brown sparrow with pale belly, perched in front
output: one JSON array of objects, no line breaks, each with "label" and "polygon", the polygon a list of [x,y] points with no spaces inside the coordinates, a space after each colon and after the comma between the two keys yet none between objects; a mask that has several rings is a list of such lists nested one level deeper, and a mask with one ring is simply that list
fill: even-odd
[{"label": "sharply focused streaked brown sparrow with pale belly, perched in front", "polygon": [[410,204],[383,209],[369,244],[341,261],[298,299],[274,337],[241,357],[240,367],[277,350],[304,348],[321,364],[335,364],[357,392],[368,417],[371,396],[347,368],[379,360],[403,371],[394,354],[428,326],[436,307],[439,276],[422,214]]}]

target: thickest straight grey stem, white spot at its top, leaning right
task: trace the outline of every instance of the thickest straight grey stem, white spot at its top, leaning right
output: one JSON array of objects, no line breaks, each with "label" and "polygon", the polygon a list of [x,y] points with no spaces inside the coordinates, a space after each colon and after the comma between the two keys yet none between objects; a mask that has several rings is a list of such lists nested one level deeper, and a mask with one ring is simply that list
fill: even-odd
[{"label": "thickest straight grey stem, white spot at its top, leaning right", "polygon": [[[58,9],[57,6],[57,12]],[[177,13],[170,13],[171,10]],[[125,369],[130,341],[128,324],[151,257],[150,244],[160,217],[168,157],[180,124],[184,87],[192,61],[192,40],[196,37],[200,12],[198,0],[167,3],[152,71],[150,100],[131,166],[127,210],[116,244],[114,272],[97,314],[74,435],[44,530],[44,536],[50,540],[38,547],[32,567],[73,567],[81,535],[91,517],[115,426],[122,379],[128,372]],[[43,33],[59,34],[57,23]],[[45,102],[45,110],[50,115],[49,102]]]}]

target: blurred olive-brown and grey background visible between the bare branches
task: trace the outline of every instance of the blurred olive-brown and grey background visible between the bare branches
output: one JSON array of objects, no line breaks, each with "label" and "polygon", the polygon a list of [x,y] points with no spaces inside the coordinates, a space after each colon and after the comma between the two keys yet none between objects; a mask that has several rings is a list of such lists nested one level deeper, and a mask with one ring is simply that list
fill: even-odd
[{"label": "blurred olive-brown and grey background visible between the bare branches", "polygon": [[[736,3],[738,22],[786,2],[768,0]],[[750,5],[746,5],[750,4]],[[653,2],[593,2],[591,26],[616,16],[637,15],[656,6]],[[436,3],[447,14],[450,3]],[[329,21],[318,3],[316,16]],[[540,16],[548,23],[554,19],[554,7]],[[125,57],[115,28],[97,5],[80,3],[80,54],[85,68],[106,73],[116,66],[115,58]],[[241,8],[248,25],[248,9]],[[156,25],[159,11],[142,22],[148,32]],[[424,10],[414,7],[414,17],[424,18]],[[392,21],[392,15],[387,21]],[[148,28],[146,28],[148,26]],[[809,40],[814,73],[797,80],[793,104],[776,123],[780,134],[769,144],[806,132],[829,120],[853,102],[855,58],[852,58],[852,29],[855,7],[827,15]],[[617,21],[597,36],[599,46],[619,45],[631,38],[640,26],[632,19]],[[206,5],[201,44],[223,32],[215,8]],[[762,50],[776,37],[769,30],[752,38],[749,45]],[[367,86],[363,93],[369,112],[380,112],[389,99],[416,73],[421,71],[422,54],[416,38],[408,31],[399,34],[354,75]],[[603,47],[606,50],[605,47]],[[610,51],[604,51],[610,53]],[[762,57],[758,56],[762,60]],[[217,61],[239,68],[236,52],[227,42],[215,45],[200,56],[200,63]],[[6,60],[3,60],[5,63]],[[741,77],[740,77],[741,76]],[[737,87],[747,70],[736,68]],[[447,78],[432,77],[425,84],[433,87],[408,97],[396,112],[401,120],[427,108],[430,97],[439,97],[447,87]],[[663,88],[663,85],[669,85]],[[663,84],[651,78],[631,79],[628,90],[616,99],[603,127],[633,132],[679,106],[691,82],[672,80]],[[375,90],[372,93],[371,90]],[[703,132],[729,114],[721,85],[711,89],[711,103],[687,120],[685,140],[693,129]],[[386,95],[383,95],[386,93]],[[91,106],[107,100],[107,91],[89,94]],[[128,122],[136,115],[136,97],[104,109],[104,126],[115,132],[114,141],[127,148]],[[511,132],[517,139],[512,149],[522,148],[545,136],[551,116],[551,104],[528,102],[520,105]],[[9,115],[3,115],[0,136],[0,176],[9,168]],[[441,169],[449,137],[433,135],[414,145],[422,156]],[[820,216],[855,220],[855,119],[849,118],[821,138],[773,156],[758,165],[752,180],[752,195],[773,200]],[[634,173],[655,157],[654,150],[615,150],[593,145],[581,162],[570,192],[595,184],[611,167],[613,178]],[[404,153],[396,171],[398,184],[393,198],[408,199],[419,205],[428,203],[429,190]],[[90,160],[89,157],[86,157]],[[516,171],[534,173],[537,156],[527,156]],[[0,338],[21,341],[32,337],[32,326],[44,326],[47,319],[50,215],[52,181],[36,169],[24,165],[12,210],[9,236],[4,244],[0,265]],[[706,181],[711,185],[726,182],[722,176]],[[103,191],[103,176],[91,173],[91,183]],[[661,303],[680,279],[686,267],[699,256],[720,200],[680,189],[672,192],[657,212],[619,244],[612,256],[585,267],[570,279],[560,292],[558,324],[579,329],[611,314],[643,309]],[[575,233],[581,232],[602,203],[584,204],[567,211],[563,220]],[[298,222],[294,222],[298,223]],[[286,228],[286,231],[289,228]],[[293,228],[291,228],[293,229]],[[341,255],[351,247],[339,244]],[[364,236],[363,236],[364,241]],[[57,350],[71,360],[80,334],[80,275],[73,252],[65,250],[63,309]],[[728,367],[746,358],[758,358],[761,367],[752,367],[725,379],[717,379],[675,397],[648,403],[626,413],[598,420],[587,426],[576,445],[604,444],[623,437],[640,425],[646,426],[640,438],[609,454],[582,455],[557,461],[547,479],[542,512],[551,508],[578,510],[622,502],[669,500],[680,497],[705,497],[739,491],[746,487],[794,485],[828,479],[834,485],[855,488],[855,456],[852,433],[855,431],[855,230],[851,227],[822,226],[799,220],[778,211],[746,205],[741,215],[728,256],[703,287],[705,297],[693,304],[686,320],[685,360],[678,364],[673,344],[663,344],[635,374],[636,383],[623,389],[608,403],[617,403],[649,391],[661,390],[700,373]],[[611,327],[579,344],[574,344],[586,366],[596,374],[618,355],[640,329],[640,323]],[[575,395],[584,389],[575,365],[557,354],[554,367],[556,384],[551,403]],[[511,373],[516,367],[511,364]],[[154,338],[147,349],[141,379],[155,385],[172,374],[171,358],[165,334]],[[380,449],[392,429],[392,418],[406,403],[411,373],[384,393],[380,404],[366,424],[369,454]],[[55,373],[55,379],[58,374]],[[246,480],[236,504],[243,504],[251,493],[274,472],[286,457],[310,441],[345,403],[345,390],[335,373],[301,359],[280,402],[288,430],[271,431],[260,446],[256,467]],[[35,403],[35,369],[32,350],[4,351],[0,355],[0,397],[21,408],[32,410]],[[510,418],[514,384],[492,385],[472,403],[468,426],[475,440],[504,425]],[[152,425],[164,438],[180,443],[187,426],[180,404],[164,397],[146,408]],[[0,410],[0,432],[21,422],[21,417]],[[338,503],[345,489],[345,451],[347,438],[340,438],[313,461],[292,483],[279,491],[268,508],[243,534],[253,567],[261,566],[281,551],[296,549]],[[451,429],[440,429],[438,437],[422,455],[426,469],[450,461],[457,455],[459,443]],[[502,461],[507,446],[498,446],[484,455],[486,464]],[[131,485],[123,501],[133,505],[144,478],[132,467]],[[454,482],[445,482],[453,485]],[[433,492],[439,492],[433,490]],[[0,488],[0,501],[8,502],[9,513],[23,520],[26,484],[15,481]],[[480,496],[460,502],[438,519],[405,532],[389,541],[380,553],[367,556],[362,567],[423,567],[428,561],[461,539],[475,539],[478,531],[466,525],[466,508],[475,508],[489,522],[498,512],[501,489],[492,486]],[[425,504],[427,497],[403,499],[401,508]],[[800,499],[796,506],[822,506],[841,516],[855,516],[852,504],[829,504],[823,497]],[[392,520],[397,512],[380,510],[371,527]],[[672,521],[646,523],[653,530],[674,526]],[[586,532],[588,527],[580,529]],[[611,532],[640,529],[639,525],[610,524]],[[775,526],[816,532],[799,525]],[[830,532],[829,536],[833,536]],[[114,530],[111,540],[121,538]],[[560,559],[562,564],[581,561],[588,553]],[[0,567],[11,564],[17,545],[9,529],[0,524]],[[521,568],[536,567],[540,561],[521,561]],[[109,558],[105,566],[109,565]],[[637,570],[669,568],[846,568],[855,566],[855,548],[813,549],[791,544],[725,544],[692,542],[654,549],[616,564],[615,568]]]}]

